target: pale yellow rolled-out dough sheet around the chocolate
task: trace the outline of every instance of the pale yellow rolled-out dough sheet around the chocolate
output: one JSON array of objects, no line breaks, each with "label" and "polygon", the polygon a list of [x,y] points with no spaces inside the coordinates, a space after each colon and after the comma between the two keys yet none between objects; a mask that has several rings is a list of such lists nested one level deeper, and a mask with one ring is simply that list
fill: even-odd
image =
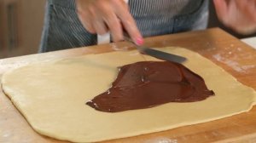
[{"label": "pale yellow rolled-out dough sheet around the chocolate", "polygon": [[156,60],[137,51],[90,54],[20,67],[3,75],[3,90],[38,133],[60,140],[93,142],[204,123],[249,111],[253,89],[188,49],[163,48],[189,60],[215,96],[193,103],[168,103],[128,112],[97,112],[85,102],[106,91],[117,67]]}]

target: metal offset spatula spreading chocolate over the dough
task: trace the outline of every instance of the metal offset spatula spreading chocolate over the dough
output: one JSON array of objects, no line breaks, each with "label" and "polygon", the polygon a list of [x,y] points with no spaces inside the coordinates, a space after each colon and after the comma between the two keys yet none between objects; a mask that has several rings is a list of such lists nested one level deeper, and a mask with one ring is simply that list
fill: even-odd
[{"label": "metal offset spatula spreading chocolate over the dough", "polygon": [[[127,33],[124,33],[124,38],[125,38],[125,41],[133,43],[133,41],[131,40],[131,37],[129,37]],[[168,60],[168,61],[173,61],[173,62],[177,62],[177,63],[183,63],[184,61],[187,60],[187,58],[185,58],[183,56],[179,56],[176,54],[169,54],[169,53],[162,52],[162,51],[156,50],[156,49],[149,49],[145,46],[138,46],[136,43],[133,43],[133,44],[140,51],[140,53],[148,54],[157,59]]]}]

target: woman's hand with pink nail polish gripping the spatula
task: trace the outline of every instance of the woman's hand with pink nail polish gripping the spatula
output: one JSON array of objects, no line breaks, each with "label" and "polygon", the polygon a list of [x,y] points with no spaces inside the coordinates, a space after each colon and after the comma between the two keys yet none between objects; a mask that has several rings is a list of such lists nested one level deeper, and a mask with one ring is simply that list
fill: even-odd
[{"label": "woman's hand with pink nail polish gripping the spatula", "polygon": [[137,29],[124,0],[76,0],[79,20],[90,33],[99,35],[110,31],[113,42],[123,40],[123,29],[137,44],[143,37]]}]

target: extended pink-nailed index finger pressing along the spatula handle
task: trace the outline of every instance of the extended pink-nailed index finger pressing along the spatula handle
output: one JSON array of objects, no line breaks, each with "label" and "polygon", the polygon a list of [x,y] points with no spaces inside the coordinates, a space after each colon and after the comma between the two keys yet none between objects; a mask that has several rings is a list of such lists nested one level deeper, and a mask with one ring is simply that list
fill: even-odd
[{"label": "extended pink-nailed index finger pressing along the spatula handle", "polygon": [[137,45],[142,45],[143,36],[138,30],[136,22],[131,16],[128,7],[126,6],[126,3],[122,4],[124,5],[124,7],[116,7],[116,14],[119,17],[119,20],[121,20],[122,26],[124,26],[125,31],[128,32],[133,42],[137,43]]}]

